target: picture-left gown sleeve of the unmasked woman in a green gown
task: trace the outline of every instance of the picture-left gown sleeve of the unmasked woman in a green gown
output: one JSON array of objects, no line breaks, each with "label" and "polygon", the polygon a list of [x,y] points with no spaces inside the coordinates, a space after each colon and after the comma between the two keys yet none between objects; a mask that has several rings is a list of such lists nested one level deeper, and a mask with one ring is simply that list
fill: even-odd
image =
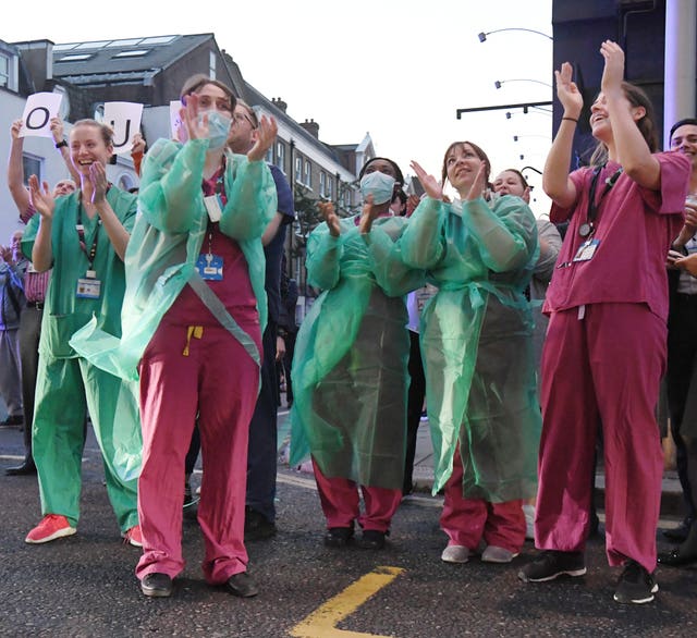
[{"label": "picture-left gown sleeve of the unmasked woman in a green gown", "polygon": [[444,254],[441,230],[447,205],[427,197],[416,207],[401,238],[404,262],[421,269],[436,266]]}]

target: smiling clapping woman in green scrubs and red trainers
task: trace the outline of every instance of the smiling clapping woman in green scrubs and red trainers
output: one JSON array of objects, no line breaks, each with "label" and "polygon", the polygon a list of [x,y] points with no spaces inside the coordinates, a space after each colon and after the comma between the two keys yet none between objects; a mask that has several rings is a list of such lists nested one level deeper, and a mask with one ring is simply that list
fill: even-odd
[{"label": "smiling clapping woman in green scrubs and red trainers", "polygon": [[107,181],[112,132],[81,120],[70,134],[70,156],[81,188],[53,199],[46,183],[29,179],[39,214],[27,225],[22,250],[38,271],[53,268],[39,342],[39,373],[32,440],[44,518],[26,537],[48,542],[75,533],[87,412],[102,453],[107,492],[121,536],[139,547],[136,486],[140,427],[135,385],[80,357],[71,335],[93,317],[121,332],[125,289],[123,256],[136,213],[135,195]]}]

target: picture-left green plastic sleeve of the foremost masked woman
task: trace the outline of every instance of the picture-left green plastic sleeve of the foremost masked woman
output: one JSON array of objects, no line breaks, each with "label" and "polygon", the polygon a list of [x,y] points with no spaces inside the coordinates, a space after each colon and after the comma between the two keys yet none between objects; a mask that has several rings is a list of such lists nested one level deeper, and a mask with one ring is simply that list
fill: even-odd
[{"label": "picture-left green plastic sleeve of the foremost masked woman", "polygon": [[193,203],[200,197],[207,149],[206,139],[189,139],[184,146],[158,139],[146,155],[138,204],[158,231],[184,233],[194,225],[198,210]]}]

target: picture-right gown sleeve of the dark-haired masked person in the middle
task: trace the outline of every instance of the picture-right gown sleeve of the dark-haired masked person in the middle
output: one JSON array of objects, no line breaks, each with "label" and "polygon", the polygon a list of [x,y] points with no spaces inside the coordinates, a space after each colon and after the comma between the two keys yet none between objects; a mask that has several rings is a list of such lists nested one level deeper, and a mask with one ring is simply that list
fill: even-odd
[{"label": "picture-right gown sleeve of the dark-haired masked person in the middle", "polygon": [[[404,218],[393,218],[386,222],[386,226],[387,224],[400,225],[401,229],[394,229],[394,234],[399,235],[405,230],[407,221]],[[369,237],[372,273],[386,295],[401,297],[426,285],[426,272],[404,262],[402,245],[394,241],[384,226],[374,226]]]}]

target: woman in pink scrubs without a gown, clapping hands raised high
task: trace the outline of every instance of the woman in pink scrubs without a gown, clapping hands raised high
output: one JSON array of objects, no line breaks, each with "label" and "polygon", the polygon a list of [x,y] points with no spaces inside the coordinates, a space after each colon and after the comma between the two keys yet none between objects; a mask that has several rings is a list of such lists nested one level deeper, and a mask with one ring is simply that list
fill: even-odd
[{"label": "woman in pink scrubs without a gown, clapping hands raised high", "polygon": [[624,52],[610,40],[590,108],[598,147],[568,174],[583,97],[567,62],[555,72],[564,108],[545,164],[552,222],[570,225],[552,275],[542,353],[542,437],[536,547],[524,581],[586,573],[598,422],[606,469],[608,561],[622,566],[614,600],[655,598],[656,528],[663,458],[655,407],[665,368],[665,255],[683,225],[689,161],[657,152],[648,97],[623,82]]}]

